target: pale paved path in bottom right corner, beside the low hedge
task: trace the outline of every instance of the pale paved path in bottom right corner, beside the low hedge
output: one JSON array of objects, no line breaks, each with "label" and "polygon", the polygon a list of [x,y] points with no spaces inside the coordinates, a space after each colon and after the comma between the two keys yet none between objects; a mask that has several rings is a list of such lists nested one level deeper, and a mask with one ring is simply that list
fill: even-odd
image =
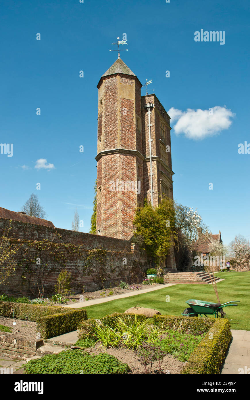
[{"label": "pale paved path in bottom right corner, beside the low hedge", "polygon": [[[221,374],[250,373],[250,330],[232,329],[232,342],[228,348]],[[242,368],[242,370],[239,370]],[[248,370],[249,368],[249,370]],[[248,371],[247,371],[248,370]]]}]

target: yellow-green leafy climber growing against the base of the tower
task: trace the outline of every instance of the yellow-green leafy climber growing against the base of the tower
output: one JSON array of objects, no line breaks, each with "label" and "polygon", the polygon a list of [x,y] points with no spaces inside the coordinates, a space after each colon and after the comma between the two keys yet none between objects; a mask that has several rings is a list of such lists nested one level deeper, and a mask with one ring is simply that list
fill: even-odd
[{"label": "yellow-green leafy climber growing against the base of the tower", "polygon": [[145,200],[143,208],[136,208],[133,224],[135,238],[143,237],[144,249],[161,265],[176,237],[173,200],[163,198],[155,208]]}]

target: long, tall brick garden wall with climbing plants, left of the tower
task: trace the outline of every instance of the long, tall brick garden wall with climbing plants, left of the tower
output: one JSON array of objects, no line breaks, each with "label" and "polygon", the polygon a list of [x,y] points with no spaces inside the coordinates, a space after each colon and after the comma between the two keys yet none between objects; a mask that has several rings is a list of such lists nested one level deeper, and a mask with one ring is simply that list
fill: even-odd
[{"label": "long, tall brick garden wall with climbing plants, left of the tower", "polygon": [[50,296],[62,270],[71,273],[72,292],[81,293],[83,286],[85,292],[94,291],[120,280],[141,282],[142,272],[151,266],[145,252],[128,240],[5,218],[0,218],[0,236],[9,224],[10,242],[19,246],[14,256],[17,267],[0,294],[34,298],[44,290],[44,296]]}]

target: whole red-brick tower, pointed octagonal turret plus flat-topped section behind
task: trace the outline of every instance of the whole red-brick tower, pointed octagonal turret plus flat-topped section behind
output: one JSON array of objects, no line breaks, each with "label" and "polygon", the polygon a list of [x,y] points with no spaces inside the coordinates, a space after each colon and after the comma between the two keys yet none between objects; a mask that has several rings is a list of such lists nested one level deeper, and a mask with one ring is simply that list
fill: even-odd
[{"label": "whole red-brick tower, pointed octagonal turret plus flat-topped section behind", "polygon": [[[135,207],[173,198],[170,117],[120,59],[98,88],[97,234],[129,239]],[[175,268],[174,256],[170,262]]]}]

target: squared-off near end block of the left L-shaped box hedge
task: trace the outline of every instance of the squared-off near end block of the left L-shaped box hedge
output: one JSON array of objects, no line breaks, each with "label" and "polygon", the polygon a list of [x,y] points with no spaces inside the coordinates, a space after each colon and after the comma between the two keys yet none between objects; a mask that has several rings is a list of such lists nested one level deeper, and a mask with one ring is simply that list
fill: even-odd
[{"label": "squared-off near end block of the left L-shaped box hedge", "polygon": [[86,310],[72,310],[60,314],[42,317],[37,321],[37,328],[44,339],[59,336],[77,330],[80,321],[87,320]]}]

